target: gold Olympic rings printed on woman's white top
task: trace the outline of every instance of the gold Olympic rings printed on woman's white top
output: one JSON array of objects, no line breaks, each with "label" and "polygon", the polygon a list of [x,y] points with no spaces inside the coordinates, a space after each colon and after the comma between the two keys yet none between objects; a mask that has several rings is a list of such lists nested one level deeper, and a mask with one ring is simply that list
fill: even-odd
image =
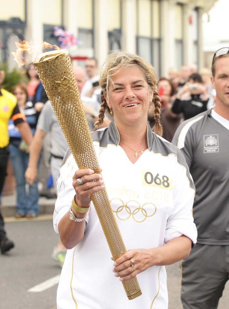
[{"label": "gold Olympic rings printed on woman's white top", "polygon": [[[134,221],[141,223],[143,221],[146,220],[146,218],[152,217],[156,211],[157,208],[153,203],[145,203],[142,206],[140,206],[140,204],[137,201],[131,200],[128,201],[125,205],[123,203],[123,201],[120,198],[112,198],[112,200],[110,201],[112,203],[112,201],[121,201],[121,206],[119,206],[117,208],[117,210],[113,210],[114,213],[116,213],[117,217],[120,220],[128,220],[131,216],[134,219]],[[130,207],[128,206],[128,204],[132,204],[135,203],[137,205],[137,207],[134,209],[133,212],[131,212]],[[149,210],[145,210],[144,206],[146,205],[152,205],[151,210],[150,210],[150,214],[147,213],[147,211],[149,212]]]}]

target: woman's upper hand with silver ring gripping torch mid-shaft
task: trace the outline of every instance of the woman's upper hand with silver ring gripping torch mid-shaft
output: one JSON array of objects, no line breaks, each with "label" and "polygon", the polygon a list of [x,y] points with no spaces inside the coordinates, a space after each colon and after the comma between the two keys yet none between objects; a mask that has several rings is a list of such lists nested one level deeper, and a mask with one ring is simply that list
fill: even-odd
[{"label": "woman's upper hand with silver ring gripping torch mid-shaft", "polygon": [[[78,184],[77,179],[82,179],[83,184]],[[80,169],[73,176],[75,189],[75,203],[79,207],[87,208],[91,202],[91,194],[104,189],[104,180],[101,174],[95,174],[91,169]]]}]

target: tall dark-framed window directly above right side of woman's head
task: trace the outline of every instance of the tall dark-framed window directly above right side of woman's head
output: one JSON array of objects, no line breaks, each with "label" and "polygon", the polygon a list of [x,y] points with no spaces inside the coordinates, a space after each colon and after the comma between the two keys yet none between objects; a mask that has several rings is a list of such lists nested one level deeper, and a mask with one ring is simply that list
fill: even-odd
[{"label": "tall dark-framed window directly above right side of woman's head", "polygon": [[159,0],[137,0],[137,53],[161,74],[161,16]]}]

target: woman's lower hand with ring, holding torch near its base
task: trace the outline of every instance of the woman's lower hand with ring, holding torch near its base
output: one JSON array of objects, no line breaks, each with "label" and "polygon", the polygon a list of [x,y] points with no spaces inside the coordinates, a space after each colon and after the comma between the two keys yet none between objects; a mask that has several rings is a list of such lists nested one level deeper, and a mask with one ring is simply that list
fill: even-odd
[{"label": "woman's lower hand with ring, holding torch near its base", "polygon": [[120,277],[120,281],[126,281],[153,266],[152,251],[153,249],[133,249],[125,252],[114,262],[115,277]]}]

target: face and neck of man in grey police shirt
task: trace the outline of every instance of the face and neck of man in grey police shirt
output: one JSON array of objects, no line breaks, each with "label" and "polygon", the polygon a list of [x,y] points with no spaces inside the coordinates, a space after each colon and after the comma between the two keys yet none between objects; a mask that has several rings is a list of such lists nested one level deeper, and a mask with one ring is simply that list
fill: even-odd
[{"label": "face and neck of man in grey police shirt", "polygon": [[229,116],[229,57],[216,59],[215,74],[214,77],[211,76],[211,83],[216,90],[214,110],[223,117],[225,114]]}]

